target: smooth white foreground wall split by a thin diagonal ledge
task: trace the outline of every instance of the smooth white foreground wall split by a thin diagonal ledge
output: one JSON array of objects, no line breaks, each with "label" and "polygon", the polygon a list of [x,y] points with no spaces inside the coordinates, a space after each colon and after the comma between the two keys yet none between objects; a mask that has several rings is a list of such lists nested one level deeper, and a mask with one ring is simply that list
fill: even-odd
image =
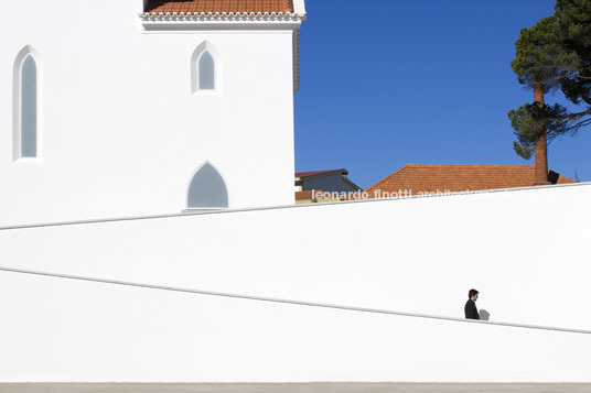
[{"label": "smooth white foreground wall split by a thin diagonal ledge", "polygon": [[[491,320],[591,329],[589,200],[582,184],[9,229],[0,265],[450,317],[475,287]],[[591,335],[7,272],[0,299],[0,381],[591,381]]]}]

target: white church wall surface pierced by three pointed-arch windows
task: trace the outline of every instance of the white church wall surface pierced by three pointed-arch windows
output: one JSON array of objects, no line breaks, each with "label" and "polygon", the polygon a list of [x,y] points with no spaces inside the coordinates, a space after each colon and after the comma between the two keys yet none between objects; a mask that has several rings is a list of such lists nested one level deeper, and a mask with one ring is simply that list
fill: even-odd
[{"label": "white church wall surface pierced by three pointed-arch windows", "polygon": [[[8,11],[0,225],[178,212],[206,160],[230,207],[293,203],[291,30],[143,33],[141,0],[21,0]],[[204,41],[219,55],[222,91],[192,95]],[[13,162],[12,72],[26,45],[40,69],[41,159]]]}]

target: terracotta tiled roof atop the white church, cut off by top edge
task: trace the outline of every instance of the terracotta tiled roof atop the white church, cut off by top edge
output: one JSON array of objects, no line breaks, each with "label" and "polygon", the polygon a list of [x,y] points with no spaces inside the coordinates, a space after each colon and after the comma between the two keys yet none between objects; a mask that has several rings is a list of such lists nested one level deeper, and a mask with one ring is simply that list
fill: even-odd
[{"label": "terracotta tiled roof atop the white church, cut off by top edge", "polygon": [[293,4],[291,0],[149,0],[146,12],[287,13],[293,12]]}]

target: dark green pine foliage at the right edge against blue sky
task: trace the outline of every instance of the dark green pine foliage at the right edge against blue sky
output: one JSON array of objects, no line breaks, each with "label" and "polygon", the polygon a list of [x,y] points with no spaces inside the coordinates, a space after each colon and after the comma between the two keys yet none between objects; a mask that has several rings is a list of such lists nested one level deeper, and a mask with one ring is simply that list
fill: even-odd
[{"label": "dark green pine foliage at the right edge against blue sky", "polygon": [[557,0],[555,14],[522,29],[512,67],[520,84],[544,92],[560,88],[582,110],[535,102],[508,112],[515,152],[529,160],[536,141],[574,134],[591,124],[591,0]]}]

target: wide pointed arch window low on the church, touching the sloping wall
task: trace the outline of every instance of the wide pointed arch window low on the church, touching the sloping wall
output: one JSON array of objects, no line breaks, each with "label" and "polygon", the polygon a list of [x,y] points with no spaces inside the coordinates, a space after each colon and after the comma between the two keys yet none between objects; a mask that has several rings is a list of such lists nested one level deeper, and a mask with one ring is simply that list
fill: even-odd
[{"label": "wide pointed arch window low on the church, touching the sloping wall", "polygon": [[228,207],[226,183],[219,172],[204,163],[193,176],[186,197],[189,209],[223,209]]}]

